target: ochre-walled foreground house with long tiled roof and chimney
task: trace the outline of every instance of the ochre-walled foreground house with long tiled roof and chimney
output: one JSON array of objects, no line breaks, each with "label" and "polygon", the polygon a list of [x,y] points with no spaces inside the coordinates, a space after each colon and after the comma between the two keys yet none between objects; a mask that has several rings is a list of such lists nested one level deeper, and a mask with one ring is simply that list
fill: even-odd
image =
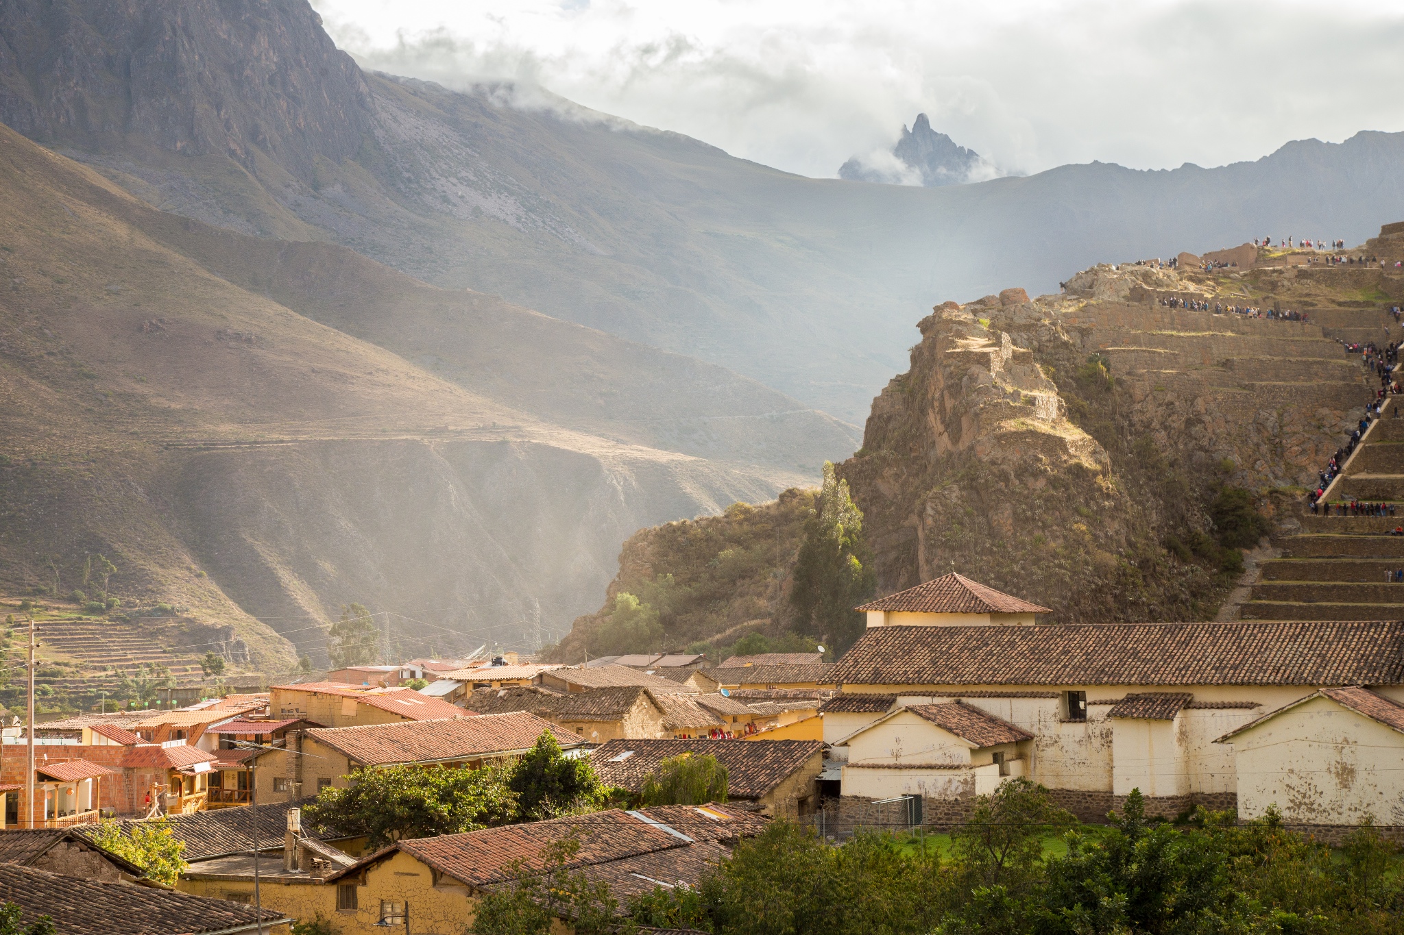
[{"label": "ochre-walled foreground house with long tiled roof and chimney", "polygon": [[[388,927],[459,932],[472,925],[480,894],[510,883],[511,864],[539,869],[553,844],[578,842],[570,868],[609,885],[623,911],[630,896],[656,886],[696,886],[764,819],[724,805],[663,806],[510,824],[469,834],[403,840],[350,866],[309,868],[289,816],[282,861],[260,864],[264,904],[300,920],[320,914],[343,935],[375,935]],[[191,868],[180,889],[223,899],[253,892],[250,858],[219,868]],[[240,876],[241,872],[241,876]]]}]

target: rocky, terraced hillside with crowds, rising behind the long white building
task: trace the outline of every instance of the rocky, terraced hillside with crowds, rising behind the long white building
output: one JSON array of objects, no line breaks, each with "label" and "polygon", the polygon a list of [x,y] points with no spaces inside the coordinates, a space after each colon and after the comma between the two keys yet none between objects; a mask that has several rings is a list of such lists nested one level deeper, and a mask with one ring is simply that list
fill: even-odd
[{"label": "rocky, terraced hillside with crowds, rising behind the long white building", "polygon": [[[1398,520],[1316,516],[1303,502],[1379,385],[1342,342],[1404,341],[1389,313],[1404,301],[1404,224],[1331,255],[1244,245],[1214,258],[1234,265],[1104,264],[1059,294],[946,301],[918,324],[910,370],[873,401],[863,447],[838,468],[879,594],[955,569],[1053,608],[1054,622],[1398,615],[1404,599],[1379,583],[1404,554],[1382,535]],[[1404,502],[1398,425],[1372,428],[1335,502]],[[783,541],[793,555],[797,533]],[[792,568],[723,580],[723,547],[701,524],[642,530],[571,639],[600,632],[616,594],[668,575],[747,594]],[[734,638],[736,621],[717,604],[670,629],[668,648]],[[755,627],[786,628],[783,614]]]}]

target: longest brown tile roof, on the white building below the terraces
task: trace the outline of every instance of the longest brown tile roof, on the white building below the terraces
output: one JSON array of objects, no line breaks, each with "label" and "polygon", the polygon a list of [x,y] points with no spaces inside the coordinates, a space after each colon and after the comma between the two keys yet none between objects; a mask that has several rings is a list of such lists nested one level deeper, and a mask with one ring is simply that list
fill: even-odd
[{"label": "longest brown tile roof, on the white building below the terraces", "polygon": [[873,627],[847,685],[1404,684],[1404,622]]}]

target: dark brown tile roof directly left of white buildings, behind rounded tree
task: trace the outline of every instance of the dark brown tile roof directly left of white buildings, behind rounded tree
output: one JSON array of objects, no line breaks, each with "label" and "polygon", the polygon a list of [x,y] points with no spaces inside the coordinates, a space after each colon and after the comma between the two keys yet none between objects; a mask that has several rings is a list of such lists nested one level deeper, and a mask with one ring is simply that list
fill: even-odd
[{"label": "dark brown tile roof directly left of white buildings, behind rounded tree", "polygon": [[[609,740],[590,761],[601,782],[629,792],[643,789],[644,779],[658,764],[681,753],[710,753],[726,767],[727,795],[733,799],[760,799],[824,749],[819,740]],[[623,760],[616,760],[632,751]]]}]

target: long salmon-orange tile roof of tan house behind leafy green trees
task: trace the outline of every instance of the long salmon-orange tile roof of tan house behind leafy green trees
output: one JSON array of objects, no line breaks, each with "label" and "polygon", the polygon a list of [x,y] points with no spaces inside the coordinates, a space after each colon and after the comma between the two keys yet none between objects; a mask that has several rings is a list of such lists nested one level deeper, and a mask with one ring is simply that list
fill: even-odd
[{"label": "long salmon-orange tile roof of tan house behind leafy green trees", "polygon": [[526,711],[358,728],[314,728],[306,736],[344,753],[355,763],[388,765],[519,753],[531,749],[542,733],[555,735],[562,747],[584,743]]}]

